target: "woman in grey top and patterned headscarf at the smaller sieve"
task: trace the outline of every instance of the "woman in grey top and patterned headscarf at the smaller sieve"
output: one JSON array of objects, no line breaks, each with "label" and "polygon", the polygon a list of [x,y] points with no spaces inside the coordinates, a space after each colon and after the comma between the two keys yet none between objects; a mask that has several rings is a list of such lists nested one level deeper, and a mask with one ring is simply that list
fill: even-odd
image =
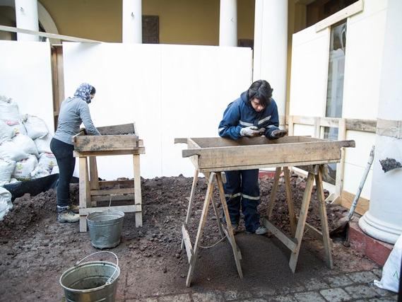
[{"label": "woman in grey top and patterned headscarf at the smaller sieve", "polygon": [[73,98],[66,98],[61,103],[59,121],[50,149],[59,165],[59,183],[57,185],[57,221],[78,222],[80,216],[78,207],[70,201],[70,182],[73,177],[76,158],[73,157],[73,142],[71,137],[80,131],[81,123],[85,132],[100,135],[90,118],[88,104],[95,96],[95,87],[82,83],[74,93]]}]

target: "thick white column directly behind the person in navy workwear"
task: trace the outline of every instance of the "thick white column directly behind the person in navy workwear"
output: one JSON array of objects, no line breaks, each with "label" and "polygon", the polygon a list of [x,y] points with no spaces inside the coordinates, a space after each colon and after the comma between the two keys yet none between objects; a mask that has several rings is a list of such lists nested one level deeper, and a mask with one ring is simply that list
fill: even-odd
[{"label": "thick white column directly behind the person in navy workwear", "polygon": [[273,88],[279,115],[285,115],[288,59],[288,1],[256,0],[253,81]]}]

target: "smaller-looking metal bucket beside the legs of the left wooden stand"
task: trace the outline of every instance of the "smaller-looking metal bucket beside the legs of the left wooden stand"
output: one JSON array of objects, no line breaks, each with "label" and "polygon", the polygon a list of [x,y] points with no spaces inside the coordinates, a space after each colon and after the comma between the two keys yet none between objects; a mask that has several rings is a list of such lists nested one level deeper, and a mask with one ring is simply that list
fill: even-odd
[{"label": "smaller-looking metal bucket beside the legs of the left wooden stand", "polygon": [[97,211],[88,214],[90,243],[95,248],[114,248],[120,243],[124,213],[122,211]]}]

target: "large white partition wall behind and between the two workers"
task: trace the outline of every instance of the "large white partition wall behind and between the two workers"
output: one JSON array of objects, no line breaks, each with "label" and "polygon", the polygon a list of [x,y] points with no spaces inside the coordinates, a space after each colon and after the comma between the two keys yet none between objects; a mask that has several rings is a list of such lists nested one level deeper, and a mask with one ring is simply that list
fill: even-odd
[{"label": "large white partition wall behind and between the two workers", "polygon": [[[217,137],[228,103],[252,81],[252,51],[241,47],[64,43],[66,96],[86,81],[95,126],[136,122],[144,178],[194,175],[175,137]],[[100,178],[132,177],[129,156],[98,158]]]}]

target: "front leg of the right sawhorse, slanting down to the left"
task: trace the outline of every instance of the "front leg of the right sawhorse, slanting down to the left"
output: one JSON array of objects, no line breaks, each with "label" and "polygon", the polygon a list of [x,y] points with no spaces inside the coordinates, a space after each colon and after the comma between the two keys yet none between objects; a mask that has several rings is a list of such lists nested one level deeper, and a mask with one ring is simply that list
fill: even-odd
[{"label": "front leg of the right sawhorse, slanting down to the left", "polygon": [[292,255],[290,255],[290,261],[289,261],[289,266],[290,269],[292,269],[293,273],[296,271],[297,258],[299,257],[300,246],[302,245],[303,233],[305,232],[305,223],[307,219],[307,213],[309,210],[310,199],[312,197],[313,184],[314,184],[314,174],[309,173],[309,175],[307,175],[305,193],[303,194],[302,206],[300,207],[300,218],[299,221],[297,221],[297,228],[295,233],[295,239],[297,240],[297,247],[296,250],[292,252]]}]

